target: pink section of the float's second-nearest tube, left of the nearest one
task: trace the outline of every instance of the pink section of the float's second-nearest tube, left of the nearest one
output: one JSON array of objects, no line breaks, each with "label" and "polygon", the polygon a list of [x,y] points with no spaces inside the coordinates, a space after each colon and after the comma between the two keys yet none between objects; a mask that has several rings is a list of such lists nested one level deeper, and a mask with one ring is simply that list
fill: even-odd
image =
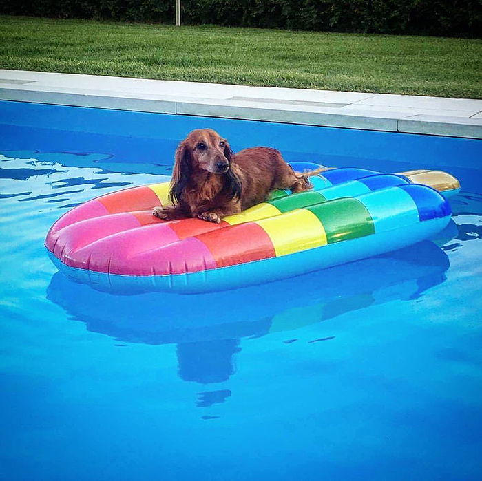
[{"label": "pink section of the float's second-nearest tube, left of the nearest one", "polygon": [[[150,224],[98,239],[62,259],[67,266],[124,275],[151,275],[149,253],[179,240],[169,224]],[[140,253],[146,253],[143,261]]]}]

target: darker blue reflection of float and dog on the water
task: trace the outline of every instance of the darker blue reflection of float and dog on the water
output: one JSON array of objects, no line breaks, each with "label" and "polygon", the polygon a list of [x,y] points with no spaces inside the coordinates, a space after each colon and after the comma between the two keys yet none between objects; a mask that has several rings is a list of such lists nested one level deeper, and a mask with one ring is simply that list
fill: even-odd
[{"label": "darker blue reflection of float and dog on the water", "polygon": [[[451,224],[447,233],[452,231]],[[449,267],[433,242],[262,286],[200,295],[153,292],[118,296],[76,284],[57,272],[47,297],[87,330],[116,341],[176,343],[184,381],[222,383],[235,374],[242,339],[295,331],[393,300],[417,299],[441,284]],[[333,336],[311,339],[331,341]],[[293,334],[285,343],[295,342]],[[222,403],[231,392],[200,393],[198,406]]]}]

